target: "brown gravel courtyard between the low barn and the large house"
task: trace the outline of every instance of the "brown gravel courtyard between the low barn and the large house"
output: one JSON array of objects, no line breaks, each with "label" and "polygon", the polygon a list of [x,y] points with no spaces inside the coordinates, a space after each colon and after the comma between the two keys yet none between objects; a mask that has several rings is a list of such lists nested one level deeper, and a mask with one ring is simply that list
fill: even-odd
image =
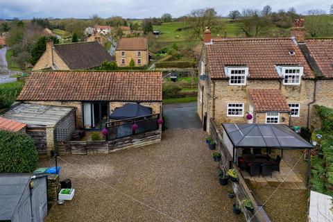
[{"label": "brown gravel courtyard between the low barn and the large house", "polygon": [[[178,221],[244,221],[232,214],[234,200],[226,196],[230,187],[219,185],[204,137],[200,129],[167,130],[160,144],[110,155],[61,157]],[[46,221],[173,221],[59,162],[60,179],[71,179],[76,196],[53,205]],[[40,167],[53,164],[54,159],[40,161]]]}]

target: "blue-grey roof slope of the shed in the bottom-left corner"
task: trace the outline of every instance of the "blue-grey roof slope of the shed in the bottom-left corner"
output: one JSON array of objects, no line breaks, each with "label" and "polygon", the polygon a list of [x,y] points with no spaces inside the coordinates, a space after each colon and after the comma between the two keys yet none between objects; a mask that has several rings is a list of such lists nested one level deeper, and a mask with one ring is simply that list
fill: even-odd
[{"label": "blue-grey roof slope of the shed in the bottom-left corner", "polygon": [[0,174],[0,221],[12,219],[30,180],[26,174]]}]

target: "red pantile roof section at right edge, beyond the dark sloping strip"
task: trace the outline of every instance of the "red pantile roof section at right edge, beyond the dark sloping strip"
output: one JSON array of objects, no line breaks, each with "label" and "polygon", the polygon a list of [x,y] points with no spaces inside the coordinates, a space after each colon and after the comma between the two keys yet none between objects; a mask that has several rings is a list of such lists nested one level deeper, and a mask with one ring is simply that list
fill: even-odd
[{"label": "red pantile roof section at right edge, beyond the dark sloping strip", "polygon": [[327,40],[306,40],[305,44],[310,51],[311,57],[324,77],[333,77],[333,39]]}]

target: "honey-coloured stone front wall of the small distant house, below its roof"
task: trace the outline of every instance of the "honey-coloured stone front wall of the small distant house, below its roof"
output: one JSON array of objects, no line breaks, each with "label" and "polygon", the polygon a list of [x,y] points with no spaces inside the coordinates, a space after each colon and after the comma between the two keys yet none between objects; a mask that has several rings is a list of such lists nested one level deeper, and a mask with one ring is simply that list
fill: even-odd
[{"label": "honey-coloured stone front wall of the small distant house, below its roof", "polygon": [[[123,51],[123,50],[121,50]],[[141,67],[143,65],[147,65],[149,62],[149,54],[148,54],[148,50],[144,51],[144,50],[139,50],[141,51],[141,57],[137,57],[137,51],[125,51],[125,57],[121,57],[121,51],[117,50],[116,51],[116,61],[117,61],[117,65],[119,67],[128,67],[130,65],[130,60],[133,58],[134,62],[135,62],[135,66],[136,67]],[[125,65],[121,65],[121,59],[125,58]],[[137,59],[141,58],[141,65],[137,65]]]}]

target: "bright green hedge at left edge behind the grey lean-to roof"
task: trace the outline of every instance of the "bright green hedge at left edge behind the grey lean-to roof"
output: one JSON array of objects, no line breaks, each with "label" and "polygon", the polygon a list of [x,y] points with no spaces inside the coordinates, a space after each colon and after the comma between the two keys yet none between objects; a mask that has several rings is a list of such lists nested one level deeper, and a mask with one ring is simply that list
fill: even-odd
[{"label": "bright green hedge at left edge behind the grey lean-to roof", "polygon": [[0,109],[8,108],[16,100],[21,92],[24,83],[3,83],[0,84]]}]

